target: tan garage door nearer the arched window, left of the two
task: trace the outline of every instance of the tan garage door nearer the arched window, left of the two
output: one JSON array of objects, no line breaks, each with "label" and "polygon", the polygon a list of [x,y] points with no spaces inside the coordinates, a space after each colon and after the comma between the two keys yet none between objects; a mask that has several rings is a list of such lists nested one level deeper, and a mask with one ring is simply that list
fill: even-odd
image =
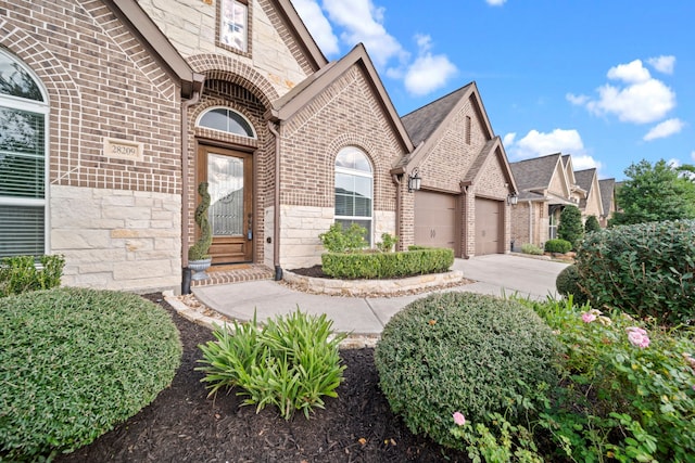
[{"label": "tan garage door nearer the arched window, left of the two", "polygon": [[457,253],[456,196],[415,192],[415,244],[447,247]]}]

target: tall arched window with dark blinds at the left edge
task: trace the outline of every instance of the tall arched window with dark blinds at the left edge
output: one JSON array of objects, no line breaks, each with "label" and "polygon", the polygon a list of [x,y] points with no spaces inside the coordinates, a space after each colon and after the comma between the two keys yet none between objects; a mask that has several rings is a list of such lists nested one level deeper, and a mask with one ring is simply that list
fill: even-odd
[{"label": "tall arched window with dark blinds at the left edge", "polygon": [[28,68],[0,50],[0,257],[47,252],[46,100]]}]

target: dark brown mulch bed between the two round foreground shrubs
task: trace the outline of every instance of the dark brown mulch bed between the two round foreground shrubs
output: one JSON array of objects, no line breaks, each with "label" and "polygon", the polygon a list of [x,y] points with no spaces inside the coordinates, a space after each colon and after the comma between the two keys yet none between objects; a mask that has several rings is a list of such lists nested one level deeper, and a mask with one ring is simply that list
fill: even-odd
[{"label": "dark brown mulch bed between the two round foreground shrubs", "polygon": [[194,371],[208,329],[180,317],[161,294],[146,296],[172,313],[184,357],[172,386],[137,415],[58,462],[468,462],[464,452],[414,436],[378,386],[372,349],[341,350],[348,366],[338,398],[311,420],[256,414],[235,396],[214,400]]}]

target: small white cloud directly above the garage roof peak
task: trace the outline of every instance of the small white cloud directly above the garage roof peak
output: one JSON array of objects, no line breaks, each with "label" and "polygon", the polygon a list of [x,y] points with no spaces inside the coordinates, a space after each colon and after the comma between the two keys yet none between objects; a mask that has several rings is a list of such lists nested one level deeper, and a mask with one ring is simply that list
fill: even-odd
[{"label": "small white cloud directly above the garage roof peak", "polygon": [[405,73],[406,90],[416,95],[425,95],[446,85],[446,81],[457,73],[456,66],[444,54],[433,55],[430,52],[432,39],[430,36],[416,35],[418,56]]}]

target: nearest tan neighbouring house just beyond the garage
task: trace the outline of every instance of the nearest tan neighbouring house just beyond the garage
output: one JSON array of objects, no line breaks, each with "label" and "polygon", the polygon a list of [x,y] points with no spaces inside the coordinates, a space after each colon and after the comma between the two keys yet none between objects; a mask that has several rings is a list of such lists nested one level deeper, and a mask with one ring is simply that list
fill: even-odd
[{"label": "nearest tan neighbouring house just beyond the garage", "polygon": [[511,207],[511,241],[515,249],[531,243],[543,246],[557,237],[563,208],[579,206],[586,191],[577,184],[571,157],[560,153],[510,164],[519,190]]}]

